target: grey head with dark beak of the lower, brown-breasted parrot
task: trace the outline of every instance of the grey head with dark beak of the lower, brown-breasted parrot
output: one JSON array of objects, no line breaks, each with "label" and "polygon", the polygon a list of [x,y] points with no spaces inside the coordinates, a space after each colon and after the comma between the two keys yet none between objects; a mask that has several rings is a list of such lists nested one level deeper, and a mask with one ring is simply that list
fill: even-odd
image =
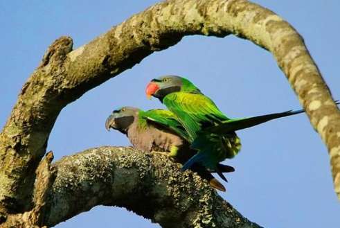
[{"label": "grey head with dark beak of the lower, brown-breasted parrot", "polygon": [[105,128],[110,128],[126,133],[129,126],[134,123],[134,119],[138,118],[139,109],[136,107],[122,107],[114,110],[105,122]]}]

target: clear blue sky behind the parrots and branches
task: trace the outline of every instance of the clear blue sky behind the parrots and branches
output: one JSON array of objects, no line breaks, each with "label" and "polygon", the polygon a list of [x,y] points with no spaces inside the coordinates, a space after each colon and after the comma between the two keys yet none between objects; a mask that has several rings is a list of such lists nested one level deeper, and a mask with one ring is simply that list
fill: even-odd
[{"label": "clear blue sky behind the parrots and branches", "polygon": [[[157,1],[0,1],[0,125],[6,122],[19,89],[53,40],[73,37],[75,48]],[[334,98],[340,98],[340,1],[269,1],[305,38]],[[274,58],[246,40],[229,36],[185,37],[153,53],[66,106],[48,142],[55,160],[86,148],[129,145],[124,135],[107,132],[112,109],[131,105],[163,107],[147,100],[147,82],[164,74],[189,78],[231,117],[252,116],[301,106]],[[305,114],[265,123],[238,133],[242,151],[222,197],[264,227],[337,227],[340,204],[333,192],[328,153]],[[159,227],[125,209],[96,207],[66,227]]]}]

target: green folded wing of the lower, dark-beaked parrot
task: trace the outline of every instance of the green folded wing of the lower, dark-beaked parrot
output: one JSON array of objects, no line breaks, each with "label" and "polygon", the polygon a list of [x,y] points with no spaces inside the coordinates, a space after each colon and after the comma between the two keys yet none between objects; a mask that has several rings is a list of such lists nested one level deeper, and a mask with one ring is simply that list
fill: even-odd
[{"label": "green folded wing of the lower, dark-beaked parrot", "polygon": [[140,117],[147,119],[147,121],[151,121],[152,123],[158,123],[163,125],[163,127],[168,128],[178,134],[180,137],[189,141],[189,136],[186,130],[183,128],[181,123],[178,121],[175,114],[168,110],[164,109],[150,109],[143,114],[140,114]]}]

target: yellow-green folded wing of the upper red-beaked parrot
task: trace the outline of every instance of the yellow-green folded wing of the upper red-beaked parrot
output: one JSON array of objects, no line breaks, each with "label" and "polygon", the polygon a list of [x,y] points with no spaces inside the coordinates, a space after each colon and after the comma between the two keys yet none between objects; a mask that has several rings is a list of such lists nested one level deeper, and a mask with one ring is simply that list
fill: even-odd
[{"label": "yellow-green folded wing of the upper red-beaked parrot", "polygon": [[165,96],[163,103],[178,117],[192,141],[202,128],[229,120],[204,94],[176,92]]}]

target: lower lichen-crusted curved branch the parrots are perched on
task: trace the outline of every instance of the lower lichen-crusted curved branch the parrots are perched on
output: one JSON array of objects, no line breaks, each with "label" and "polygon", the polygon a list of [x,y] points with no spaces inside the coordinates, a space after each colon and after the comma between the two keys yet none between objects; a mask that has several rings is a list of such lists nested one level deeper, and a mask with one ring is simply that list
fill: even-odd
[{"label": "lower lichen-crusted curved branch the parrots are perched on", "polygon": [[48,227],[96,205],[125,207],[161,227],[259,227],[166,156],[101,147],[63,157],[53,168],[42,222]]}]

